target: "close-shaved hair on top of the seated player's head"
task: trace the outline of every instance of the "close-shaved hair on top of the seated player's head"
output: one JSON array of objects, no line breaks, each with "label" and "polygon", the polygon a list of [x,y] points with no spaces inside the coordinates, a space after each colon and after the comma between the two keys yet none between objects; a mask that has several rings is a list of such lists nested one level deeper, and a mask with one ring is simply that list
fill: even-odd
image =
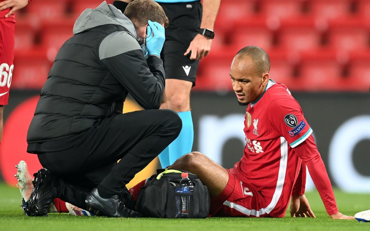
[{"label": "close-shaved hair on top of the seated player's head", "polygon": [[236,53],[234,60],[250,58],[256,74],[262,75],[270,71],[270,58],[266,51],[258,46],[246,46]]}]

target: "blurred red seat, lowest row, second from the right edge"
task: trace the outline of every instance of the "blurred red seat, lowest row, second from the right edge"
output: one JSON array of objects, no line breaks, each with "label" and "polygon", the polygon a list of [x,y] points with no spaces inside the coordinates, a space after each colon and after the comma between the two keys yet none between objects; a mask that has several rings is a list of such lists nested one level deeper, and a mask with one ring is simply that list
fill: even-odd
[{"label": "blurred red seat, lowest row, second from the right edge", "polygon": [[333,91],[342,79],[342,65],[336,60],[336,52],[313,51],[302,54],[299,73],[300,90]]}]

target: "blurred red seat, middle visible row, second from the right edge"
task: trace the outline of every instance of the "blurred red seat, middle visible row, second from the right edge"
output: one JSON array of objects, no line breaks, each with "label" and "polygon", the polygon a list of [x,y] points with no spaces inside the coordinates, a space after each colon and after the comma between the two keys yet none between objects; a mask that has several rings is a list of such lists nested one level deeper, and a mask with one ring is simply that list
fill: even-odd
[{"label": "blurred red seat, middle visible row, second from the right edge", "polygon": [[321,33],[310,17],[283,20],[278,32],[279,45],[291,51],[317,49],[321,39]]}]

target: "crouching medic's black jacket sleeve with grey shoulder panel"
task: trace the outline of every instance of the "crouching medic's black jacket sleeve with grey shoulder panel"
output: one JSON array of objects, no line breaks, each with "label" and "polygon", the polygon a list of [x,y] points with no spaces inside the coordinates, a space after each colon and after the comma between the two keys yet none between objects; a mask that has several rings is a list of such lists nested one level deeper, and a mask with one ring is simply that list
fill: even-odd
[{"label": "crouching medic's black jacket sleeve with grey shoulder panel", "polygon": [[124,31],[108,35],[99,46],[99,58],[140,106],[161,106],[165,86],[163,62],[156,56],[145,60],[132,35]]}]

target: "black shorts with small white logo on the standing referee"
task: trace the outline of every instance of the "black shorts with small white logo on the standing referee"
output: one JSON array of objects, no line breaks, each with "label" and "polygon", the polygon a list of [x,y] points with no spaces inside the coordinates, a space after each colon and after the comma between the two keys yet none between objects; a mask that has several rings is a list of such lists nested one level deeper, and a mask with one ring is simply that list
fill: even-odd
[{"label": "black shorts with small white logo on the standing referee", "polygon": [[201,26],[203,12],[201,1],[159,4],[169,19],[161,54],[166,79],[186,80],[192,82],[194,87],[199,60],[191,60],[184,56],[184,53]]}]

